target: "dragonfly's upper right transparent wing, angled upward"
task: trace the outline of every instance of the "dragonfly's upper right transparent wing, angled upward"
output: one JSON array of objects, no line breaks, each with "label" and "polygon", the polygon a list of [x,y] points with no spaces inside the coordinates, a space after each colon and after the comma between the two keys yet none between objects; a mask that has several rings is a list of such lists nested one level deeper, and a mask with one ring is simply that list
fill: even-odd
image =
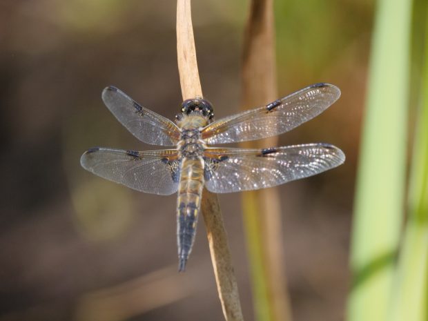
[{"label": "dragonfly's upper right transparent wing, angled upward", "polygon": [[319,115],[339,97],[338,87],[314,84],[266,106],[213,121],[202,130],[202,139],[225,144],[279,135]]}]

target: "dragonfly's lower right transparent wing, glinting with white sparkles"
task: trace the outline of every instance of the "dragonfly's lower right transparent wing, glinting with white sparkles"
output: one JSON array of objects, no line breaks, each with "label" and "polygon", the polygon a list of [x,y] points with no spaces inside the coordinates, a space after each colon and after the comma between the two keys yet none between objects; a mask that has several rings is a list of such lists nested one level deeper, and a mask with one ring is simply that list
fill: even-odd
[{"label": "dragonfly's lower right transparent wing, glinting with white sparkles", "polygon": [[205,186],[214,193],[232,193],[277,186],[339,166],[344,153],[329,144],[266,149],[208,148]]}]

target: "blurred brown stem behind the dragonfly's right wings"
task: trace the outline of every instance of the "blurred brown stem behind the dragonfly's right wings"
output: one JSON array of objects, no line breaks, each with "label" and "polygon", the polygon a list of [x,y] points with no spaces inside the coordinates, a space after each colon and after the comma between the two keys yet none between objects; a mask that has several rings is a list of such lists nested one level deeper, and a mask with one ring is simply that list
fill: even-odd
[{"label": "blurred brown stem behind the dragonfly's right wings", "polygon": [[[244,36],[242,107],[249,108],[277,98],[273,0],[251,1]],[[271,137],[245,147],[266,148],[277,143],[278,139]],[[291,320],[278,190],[245,193],[242,202],[257,319]]]}]

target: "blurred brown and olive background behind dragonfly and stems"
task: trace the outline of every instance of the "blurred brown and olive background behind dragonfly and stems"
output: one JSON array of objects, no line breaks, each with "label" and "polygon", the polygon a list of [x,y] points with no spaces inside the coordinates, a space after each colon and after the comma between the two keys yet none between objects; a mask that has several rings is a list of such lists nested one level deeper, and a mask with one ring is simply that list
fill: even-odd
[{"label": "blurred brown and olive background behind dragonfly and stems", "polygon": [[[178,274],[176,195],[137,193],[79,165],[93,146],[153,149],[110,114],[105,86],[170,119],[179,111],[175,9],[163,0],[1,1],[1,321],[223,319],[203,222]],[[216,117],[239,110],[247,10],[243,0],[193,3]],[[280,186],[298,321],[344,315],[372,19],[369,0],[275,1],[279,95],[322,81],[342,90],[280,145],[329,142],[347,155],[333,171]],[[220,204],[244,318],[254,320],[240,195]]]}]

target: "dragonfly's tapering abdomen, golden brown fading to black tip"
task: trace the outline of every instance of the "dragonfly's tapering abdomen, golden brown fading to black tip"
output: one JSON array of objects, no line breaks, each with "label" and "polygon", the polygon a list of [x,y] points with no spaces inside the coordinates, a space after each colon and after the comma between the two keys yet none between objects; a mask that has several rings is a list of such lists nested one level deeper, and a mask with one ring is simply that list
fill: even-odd
[{"label": "dragonfly's tapering abdomen, golden brown fading to black tip", "polygon": [[197,217],[204,188],[202,159],[184,158],[177,197],[177,243],[179,271],[184,271],[195,240]]}]

